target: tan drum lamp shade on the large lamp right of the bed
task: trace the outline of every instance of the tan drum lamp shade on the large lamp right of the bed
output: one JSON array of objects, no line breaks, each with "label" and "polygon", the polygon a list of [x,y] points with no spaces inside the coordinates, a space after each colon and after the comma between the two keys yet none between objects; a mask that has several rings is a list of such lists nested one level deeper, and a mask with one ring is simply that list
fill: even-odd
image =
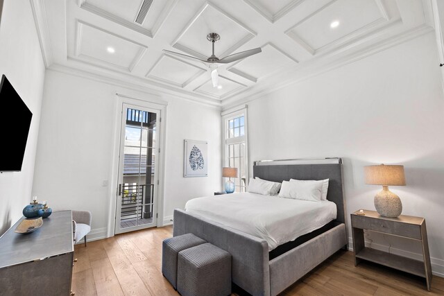
[{"label": "tan drum lamp shade on the large lamp right of the bed", "polygon": [[366,184],[404,186],[404,166],[365,166]]}]

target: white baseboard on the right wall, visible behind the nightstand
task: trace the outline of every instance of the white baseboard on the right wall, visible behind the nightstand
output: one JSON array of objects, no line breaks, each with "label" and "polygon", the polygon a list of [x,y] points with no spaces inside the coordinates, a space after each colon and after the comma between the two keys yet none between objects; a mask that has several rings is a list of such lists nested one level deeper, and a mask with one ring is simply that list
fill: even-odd
[{"label": "white baseboard on the right wall, visible behind the nightstand", "polygon": [[[422,261],[422,254],[401,250],[395,247],[390,247],[389,245],[382,245],[380,243],[375,243],[368,240],[366,240],[365,242],[366,247],[371,244],[372,249],[384,252],[388,252],[388,250],[390,249],[391,254],[396,254],[410,259]],[[351,236],[348,238],[348,250],[353,251],[353,238]],[[432,274],[436,275],[436,277],[444,277],[444,260],[430,257],[430,263],[432,263]]]}]

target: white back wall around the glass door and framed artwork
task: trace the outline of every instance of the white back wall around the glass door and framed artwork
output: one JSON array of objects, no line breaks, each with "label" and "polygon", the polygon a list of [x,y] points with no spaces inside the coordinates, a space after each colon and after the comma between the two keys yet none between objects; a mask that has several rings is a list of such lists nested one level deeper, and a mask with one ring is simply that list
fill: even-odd
[{"label": "white back wall around the glass door and framed artwork", "polygon": [[[155,101],[146,93],[66,73],[47,71],[33,194],[53,209],[92,211],[92,235],[103,238],[112,180],[116,93]],[[180,98],[168,102],[166,123],[164,216],[192,197],[219,190],[221,180],[220,110]],[[209,141],[209,177],[183,177],[184,139]],[[110,184],[111,185],[111,184]],[[113,193],[115,192],[112,190]]]}]

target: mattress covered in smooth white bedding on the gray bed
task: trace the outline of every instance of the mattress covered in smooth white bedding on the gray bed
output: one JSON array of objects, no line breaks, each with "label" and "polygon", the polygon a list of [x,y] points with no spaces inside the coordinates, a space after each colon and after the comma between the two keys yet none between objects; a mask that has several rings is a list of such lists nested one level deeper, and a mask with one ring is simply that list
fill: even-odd
[{"label": "mattress covered in smooth white bedding on the gray bed", "polygon": [[293,241],[336,219],[336,204],[256,193],[231,193],[194,198],[185,211],[263,238],[268,250]]}]

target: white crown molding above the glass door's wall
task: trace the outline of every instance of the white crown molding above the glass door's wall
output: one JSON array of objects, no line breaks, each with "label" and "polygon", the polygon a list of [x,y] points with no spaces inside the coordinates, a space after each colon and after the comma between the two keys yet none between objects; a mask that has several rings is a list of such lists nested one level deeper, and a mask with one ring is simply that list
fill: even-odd
[{"label": "white crown molding above the glass door's wall", "polygon": [[[206,96],[199,96],[197,94],[189,94],[189,92],[180,91],[180,89],[174,89],[173,87],[165,86],[160,83],[150,81],[144,78],[135,78],[131,75],[117,74],[115,78],[104,76],[103,73],[96,73],[96,71],[87,71],[85,69],[78,69],[75,67],[67,67],[62,64],[52,64],[48,69],[49,71],[56,71],[60,73],[85,78],[88,80],[94,80],[96,82],[102,82],[108,85],[116,87],[123,87],[137,92],[144,92],[146,94],[152,94],[155,96],[164,97],[165,95],[173,96],[176,98],[184,99],[192,103],[198,103],[207,107],[221,108],[221,101],[214,98],[207,98]],[[113,73],[116,74],[116,73]]]}]

